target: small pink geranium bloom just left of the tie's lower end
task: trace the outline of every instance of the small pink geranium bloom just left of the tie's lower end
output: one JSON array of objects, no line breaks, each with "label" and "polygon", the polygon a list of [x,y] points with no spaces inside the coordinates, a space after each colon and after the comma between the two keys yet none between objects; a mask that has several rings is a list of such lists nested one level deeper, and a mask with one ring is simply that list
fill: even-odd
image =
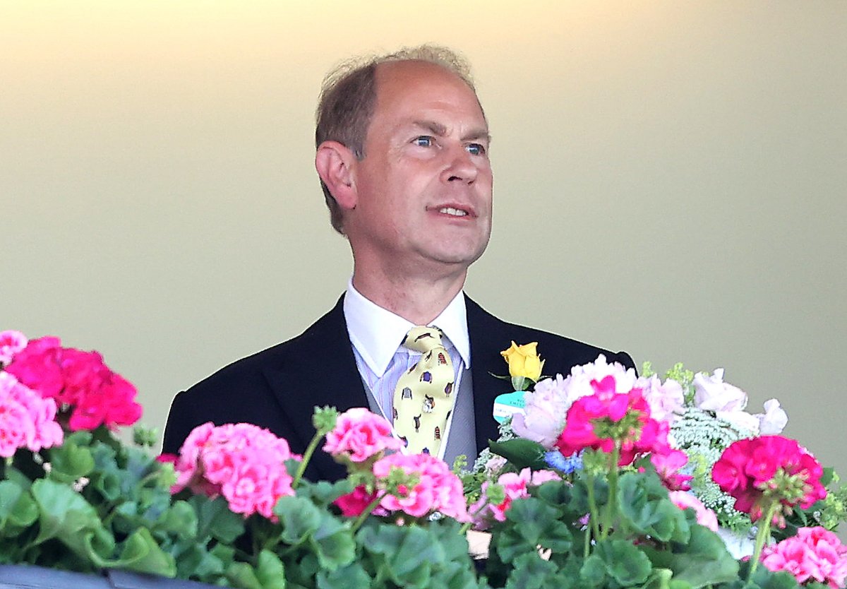
[{"label": "small pink geranium bloom just left of the tie's lower end", "polygon": [[352,408],[338,416],[335,429],[326,435],[324,452],[364,462],[385,450],[399,450],[403,442],[391,436],[391,424],[366,408]]}]

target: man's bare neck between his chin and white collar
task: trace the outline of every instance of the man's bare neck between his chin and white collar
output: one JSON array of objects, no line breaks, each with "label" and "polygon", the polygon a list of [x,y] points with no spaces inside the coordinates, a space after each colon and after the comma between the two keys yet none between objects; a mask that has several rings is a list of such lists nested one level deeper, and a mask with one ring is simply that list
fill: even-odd
[{"label": "man's bare neck between his chin and white collar", "polygon": [[422,278],[379,279],[371,273],[353,271],[353,286],[369,301],[415,325],[429,325],[456,297],[467,271],[440,280]]}]

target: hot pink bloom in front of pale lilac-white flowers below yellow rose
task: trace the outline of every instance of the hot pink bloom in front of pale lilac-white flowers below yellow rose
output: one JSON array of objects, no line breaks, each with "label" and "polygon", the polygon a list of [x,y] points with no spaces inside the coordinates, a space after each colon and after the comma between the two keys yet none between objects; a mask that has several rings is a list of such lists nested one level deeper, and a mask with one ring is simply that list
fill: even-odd
[{"label": "hot pink bloom in front of pale lilac-white flowers below yellow rose", "polygon": [[639,453],[669,453],[667,422],[650,417],[641,389],[619,392],[615,375],[590,381],[594,394],[579,397],[567,411],[556,447],[564,456],[594,448],[611,453],[620,448],[618,464],[631,464]]}]

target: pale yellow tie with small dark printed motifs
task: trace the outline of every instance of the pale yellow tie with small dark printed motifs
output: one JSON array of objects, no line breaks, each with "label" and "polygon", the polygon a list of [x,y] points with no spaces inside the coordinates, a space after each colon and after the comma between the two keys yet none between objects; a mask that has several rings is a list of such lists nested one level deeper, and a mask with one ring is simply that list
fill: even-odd
[{"label": "pale yellow tie with small dark printed motifs", "polygon": [[403,341],[403,346],[422,354],[394,390],[394,428],[408,453],[438,456],[446,434],[456,375],[442,335],[437,327],[412,327]]}]

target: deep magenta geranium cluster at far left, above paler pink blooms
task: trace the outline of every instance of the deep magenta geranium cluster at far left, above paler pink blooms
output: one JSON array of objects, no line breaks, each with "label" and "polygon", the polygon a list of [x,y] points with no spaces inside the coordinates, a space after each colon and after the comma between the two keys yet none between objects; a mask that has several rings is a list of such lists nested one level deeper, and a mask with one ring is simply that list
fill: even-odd
[{"label": "deep magenta geranium cluster at far left, above paler pink blooms", "polygon": [[109,370],[99,353],[62,347],[58,337],[30,340],[5,370],[54,398],[60,410],[70,408],[72,431],[132,425],[141,417],[135,386]]}]

